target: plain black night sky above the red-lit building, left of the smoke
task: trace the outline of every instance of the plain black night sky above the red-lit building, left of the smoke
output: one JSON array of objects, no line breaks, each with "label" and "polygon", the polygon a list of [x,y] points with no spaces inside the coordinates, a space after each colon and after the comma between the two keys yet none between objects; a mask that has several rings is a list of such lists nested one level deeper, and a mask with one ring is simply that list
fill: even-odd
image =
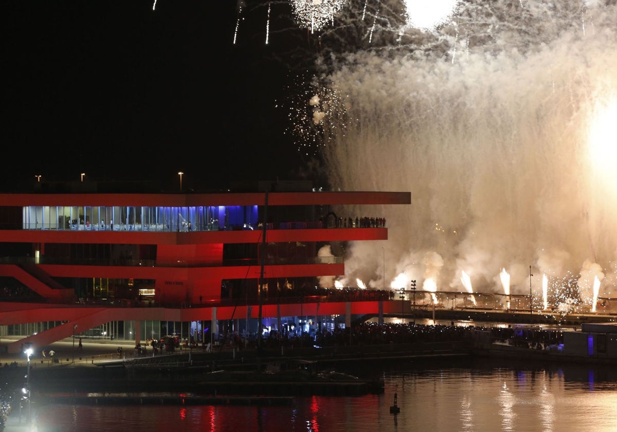
[{"label": "plain black night sky above the red-lit building, left of the smoke", "polygon": [[289,9],[271,10],[266,45],[257,1],[236,44],[235,1],[4,2],[3,189],[82,172],[170,187],[182,171],[208,190],[299,178],[284,99],[302,31]]}]

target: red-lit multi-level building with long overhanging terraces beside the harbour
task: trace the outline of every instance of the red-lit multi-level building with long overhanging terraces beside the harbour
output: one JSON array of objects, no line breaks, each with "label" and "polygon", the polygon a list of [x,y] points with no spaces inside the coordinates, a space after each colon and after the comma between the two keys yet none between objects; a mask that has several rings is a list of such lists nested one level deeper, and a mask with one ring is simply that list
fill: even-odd
[{"label": "red-lit multi-level building with long overhanging terraces beside the harbour", "polygon": [[[333,209],[411,202],[410,193],[323,192],[297,182],[229,193],[38,186],[0,194],[0,331],[36,345],[74,331],[200,339],[204,322],[217,330],[236,320],[238,331],[242,320],[250,331],[259,312],[276,318],[275,328],[281,316],[375,312],[370,301],[305,302],[320,276],[344,275],[342,244],[387,239],[379,215]],[[328,245],[331,255],[320,256]]]}]

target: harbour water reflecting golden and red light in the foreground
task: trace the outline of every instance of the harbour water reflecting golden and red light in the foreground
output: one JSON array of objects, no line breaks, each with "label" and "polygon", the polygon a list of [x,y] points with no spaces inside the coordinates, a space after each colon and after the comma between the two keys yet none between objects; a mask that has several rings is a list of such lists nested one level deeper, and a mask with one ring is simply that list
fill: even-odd
[{"label": "harbour water reflecting golden and red light in the foreground", "polygon": [[[405,364],[371,367],[384,378],[383,394],[297,397],[283,407],[43,405],[37,422],[39,431],[49,425],[47,430],[66,432],[93,422],[101,432],[579,432],[589,430],[591,421],[594,432],[617,430],[617,379],[604,368],[399,363]],[[394,392],[397,415],[389,412]]]}]

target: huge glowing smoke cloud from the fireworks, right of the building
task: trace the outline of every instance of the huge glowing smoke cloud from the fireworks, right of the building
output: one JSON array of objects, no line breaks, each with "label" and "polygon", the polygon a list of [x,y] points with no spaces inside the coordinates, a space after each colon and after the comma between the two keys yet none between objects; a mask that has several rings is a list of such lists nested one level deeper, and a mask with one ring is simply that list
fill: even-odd
[{"label": "huge glowing smoke cloud from the fireworks, right of the building", "polygon": [[[531,265],[536,292],[544,273],[615,288],[617,187],[595,175],[587,129],[598,101],[617,101],[617,6],[463,3],[439,30],[383,18],[374,48],[331,56],[322,101],[344,95],[321,119],[331,186],[411,191],[411,206],[345,209],[387,218],[388,281],[463,290],[465,271],[500,292],[505,268],[526,294]],[[346,277],[379,287],[382,246],[366,243],[349,247]]]}]

